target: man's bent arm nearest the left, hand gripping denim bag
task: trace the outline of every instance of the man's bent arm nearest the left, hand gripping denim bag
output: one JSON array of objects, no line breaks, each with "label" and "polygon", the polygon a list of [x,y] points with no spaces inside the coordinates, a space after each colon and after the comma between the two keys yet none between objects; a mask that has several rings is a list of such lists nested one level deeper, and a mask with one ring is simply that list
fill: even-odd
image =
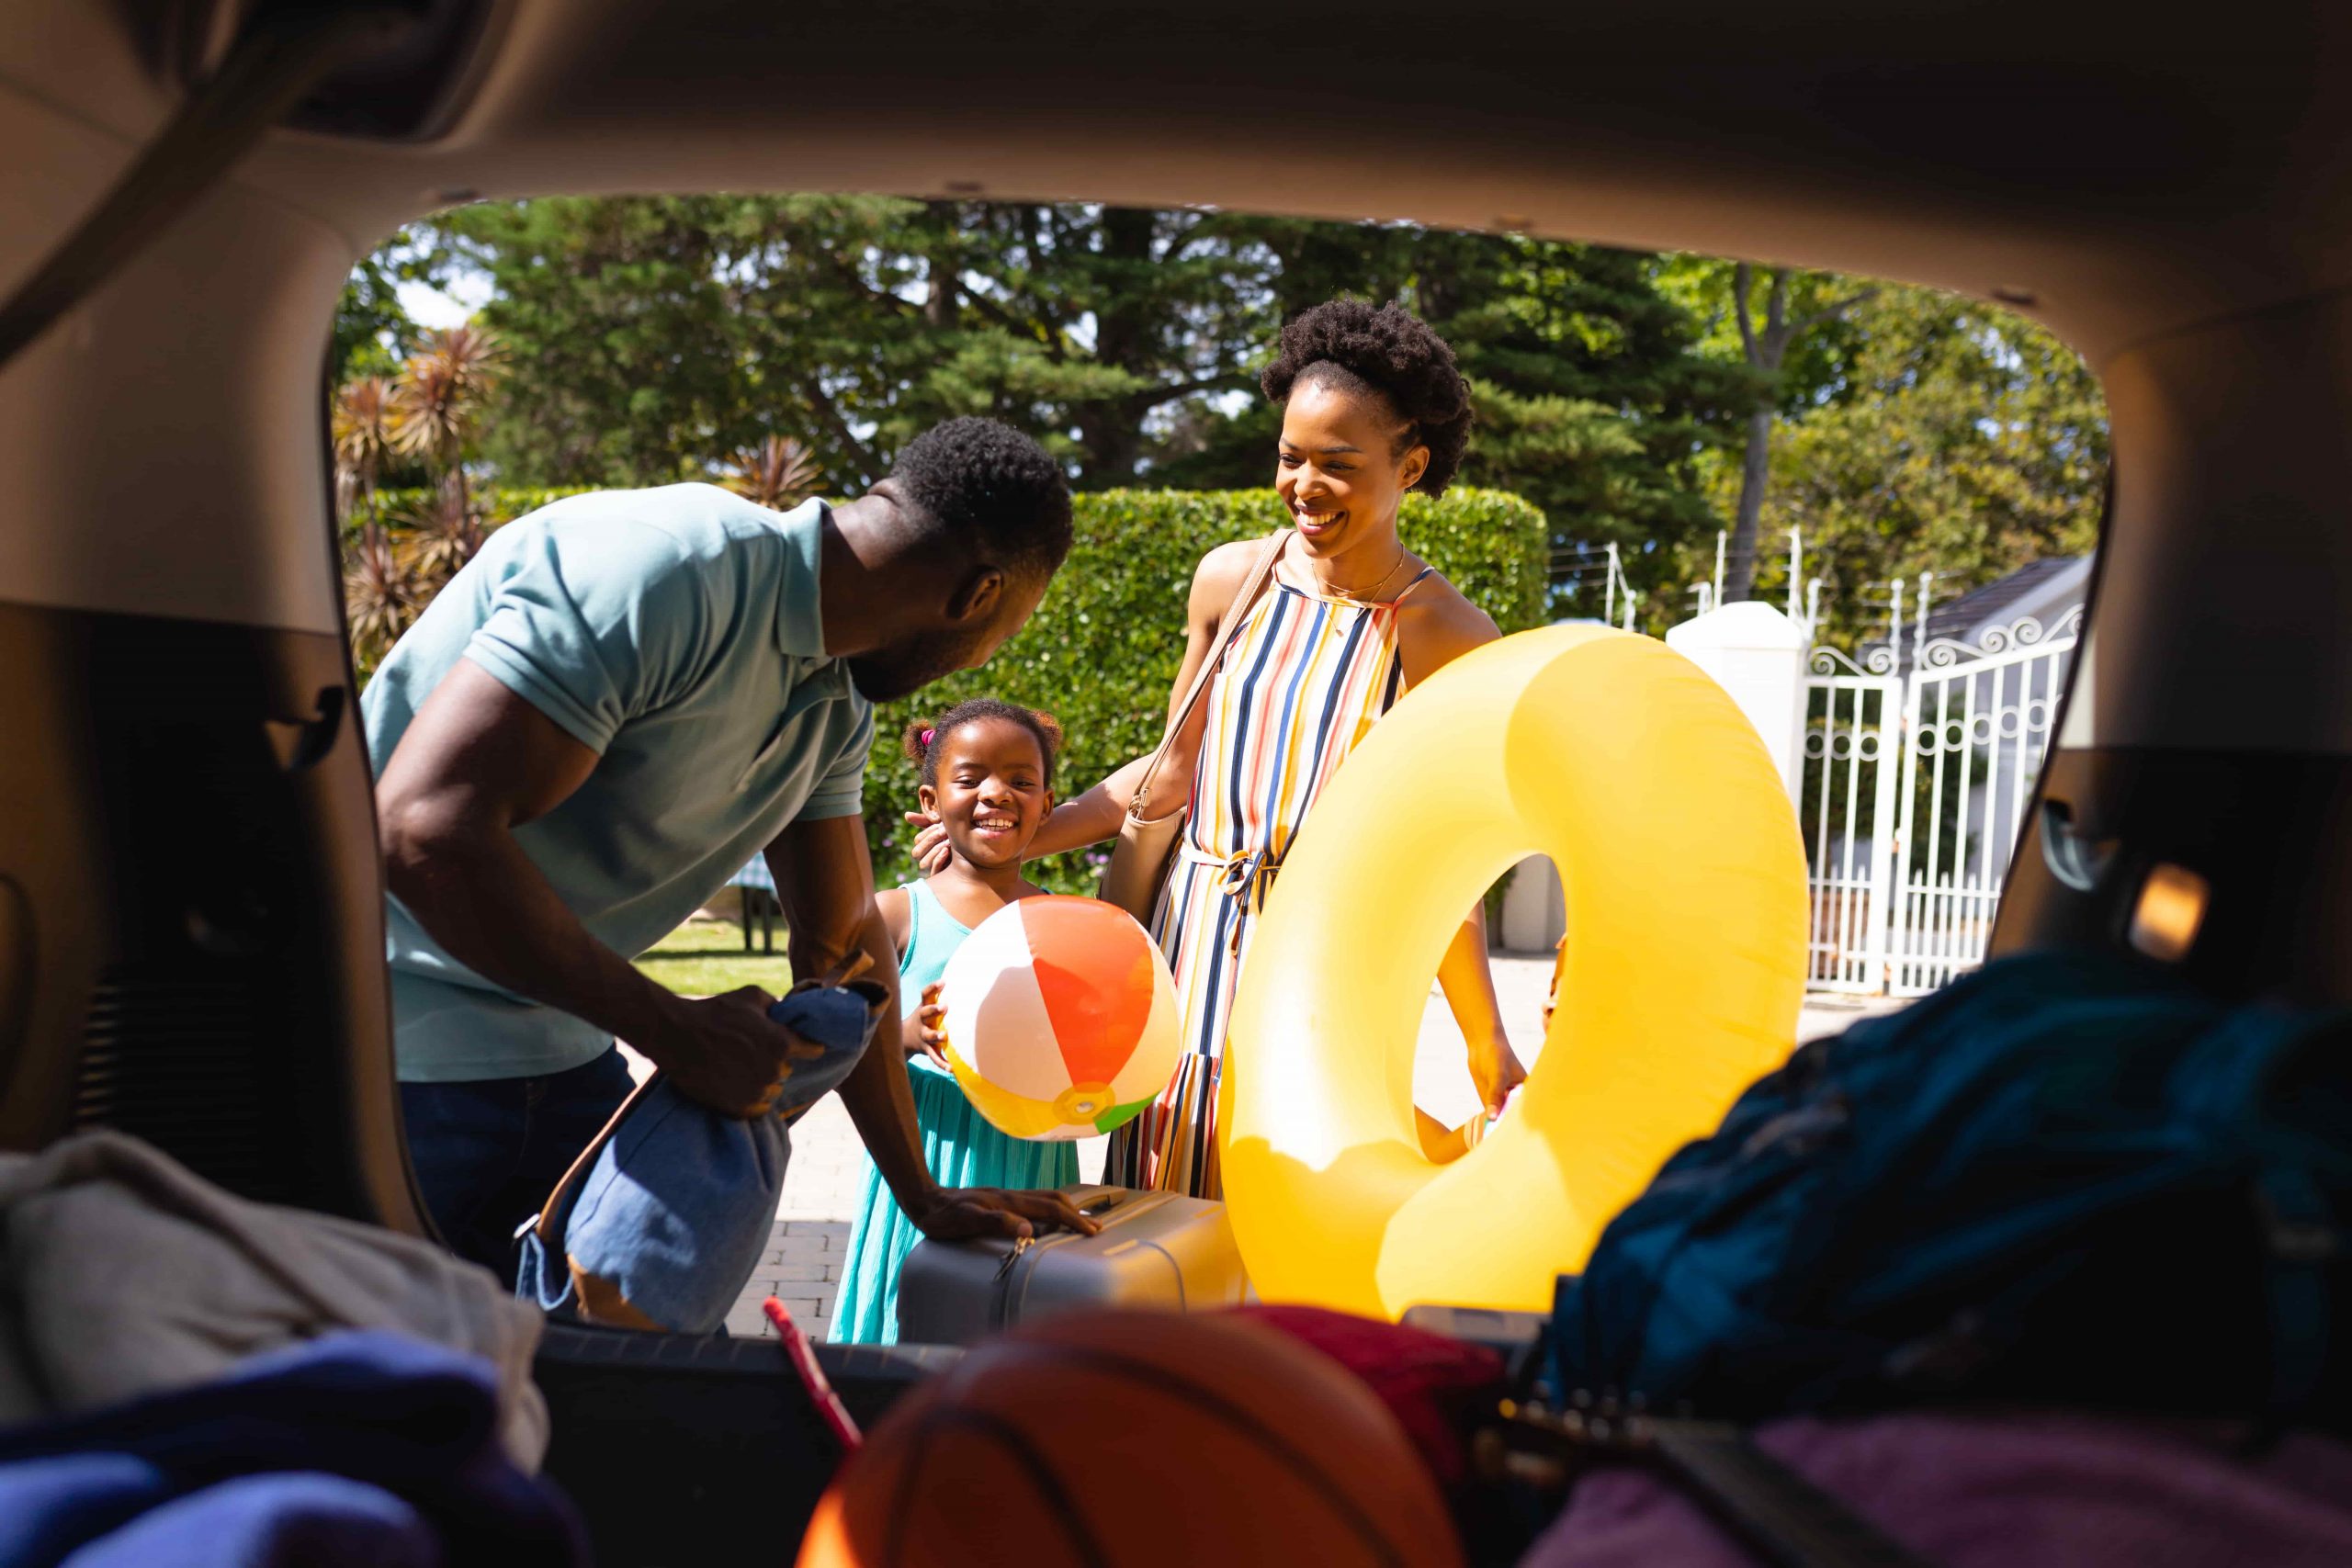
[{"label": "man's bent arm nearest the left, hand gripping denim bag", "polygon": [[442,950],[494,985],[619,1034],[682,1093],[731,1117],[774,1105],[793,1056],[771,997],[684,1001],[595,940],[515,844],[597,755],[461,658],[376,780],[376,837],[395,898]]}]

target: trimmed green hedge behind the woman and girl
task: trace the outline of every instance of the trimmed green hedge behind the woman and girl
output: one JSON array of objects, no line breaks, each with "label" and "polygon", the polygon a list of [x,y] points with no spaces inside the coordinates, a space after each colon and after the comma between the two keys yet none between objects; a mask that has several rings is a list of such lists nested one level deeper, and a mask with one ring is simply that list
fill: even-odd
[{"label": "trimmed green hedge behind the woman and girl", "polygon": [[[898,752],[910,717],[967,696],[1044,708],[1068,731],[1056,788],[1065,797],[1091,788],[1160,741],[1183,661],[1192,567],[1221,543],[1270,534],[1284,515],[1270,489],[1115,489],[1080,494],[1075,522],[1070,559],[1018,637],[983,670],[948,677],[875,715],[866,830],[882,886],[913,875],[903,813],[915,804],[915,769]],[[1526,501],[1491,489],[1454,489],[1442,501],[1411,496],[1404,541],[1505,632],[1543,623],[1548,531]],[[1105,853],[1108,846],[1054,856],[1035,863],[1033,875],[1058,891],[1091,891]]]}]

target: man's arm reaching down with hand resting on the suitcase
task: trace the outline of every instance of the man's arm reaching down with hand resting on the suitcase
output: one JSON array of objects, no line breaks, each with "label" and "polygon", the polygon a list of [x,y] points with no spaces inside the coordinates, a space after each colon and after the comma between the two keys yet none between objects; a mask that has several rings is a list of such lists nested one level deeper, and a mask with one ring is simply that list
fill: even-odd
[{"label": "man's arm reaching down with hand resting on the suitcase", "polygon": [[[840,971],[851,954],[873,957],[868,978],[891,992],[887,1018],[898,1016],[898,952],[875,907],[875,872],[866,856],[866,818],[828,816],[793,823],[767,846],[767,867],[783,905],[786,952],[795,978]],[[997,1192],[995,1187],[941,1187],[922,1164],[915,1128],[915,1093],[906,1081],[903,1051],[868,1048],[847,1079],[842,1105],[866,1140],[875,1168],[889,1182],[898,1208],[927,1237],[1025,1237],[1037,1225],[1094,1232],[1098,1225],[1058,1192]]]}]

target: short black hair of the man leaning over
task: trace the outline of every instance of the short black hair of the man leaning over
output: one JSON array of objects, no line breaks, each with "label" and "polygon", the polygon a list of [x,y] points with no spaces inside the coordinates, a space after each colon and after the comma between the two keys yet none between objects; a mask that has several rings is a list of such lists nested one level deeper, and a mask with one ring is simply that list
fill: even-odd
[{"label": "short black hair of the man leaning over", "polygon": [[1054,576],[1070,552],[1070,482],[1044,447],[993,418],[950,418],[898,451],[898,496],[988,564]]}]

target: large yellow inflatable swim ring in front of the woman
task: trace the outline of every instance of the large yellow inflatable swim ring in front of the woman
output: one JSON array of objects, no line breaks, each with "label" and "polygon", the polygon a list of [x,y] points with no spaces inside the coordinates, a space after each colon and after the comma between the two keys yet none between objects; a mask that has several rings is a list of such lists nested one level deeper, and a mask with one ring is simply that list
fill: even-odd
[{"label": "large yellow inflatable swim ring in front of the woman", "polygon": [[[1439,1166],[1414,1041],[1512,863],[1566,886],[1559,1011],[1510,1114]],[[1602,1227],[1790,1051],[1797,813],[1731,698],[1663,642],[1505,637],[1406,696],[1291,844],[1235,994],[1225,1204],[1265,1300],[1548,1309]]]}]

